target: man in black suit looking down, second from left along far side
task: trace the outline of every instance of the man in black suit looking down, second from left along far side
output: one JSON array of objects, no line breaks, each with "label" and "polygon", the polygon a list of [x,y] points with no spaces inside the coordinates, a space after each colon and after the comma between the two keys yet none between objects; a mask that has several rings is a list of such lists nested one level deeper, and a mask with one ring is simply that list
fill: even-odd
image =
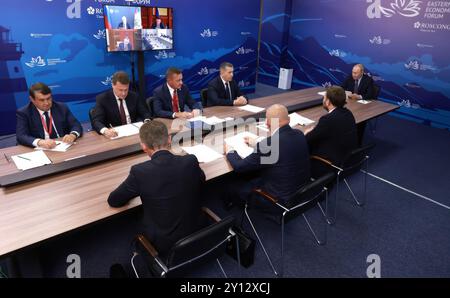
[{"label": "man in black suit looking down, second from left along far side", "polygon": [[97,95],[92,128],[108,138],[117,136],[113,126],[151,119],[147,107],[133,91],[129,91],[130,78],[118,71],[112,77],[112,90]]}]

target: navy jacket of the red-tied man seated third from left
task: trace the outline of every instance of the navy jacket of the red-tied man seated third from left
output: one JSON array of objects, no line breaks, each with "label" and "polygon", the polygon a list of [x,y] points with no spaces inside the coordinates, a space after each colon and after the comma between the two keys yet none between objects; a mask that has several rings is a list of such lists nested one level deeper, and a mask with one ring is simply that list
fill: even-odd
[{"label": "navy jacket of the red-tied man seated third from left", "polygon": [[[172,119],[172,97],[170,96],[169,87],[167,83],[162,84],[153,91],[153,112],[155,117],[170,118]],[[189,89],[186,85],[181,86],[178,90],[178,103],[180,105],[180,112],[184,112],[184,106],[187,105],[191,110],[201,109],[202,105],[192,99],[189,94]]]}]

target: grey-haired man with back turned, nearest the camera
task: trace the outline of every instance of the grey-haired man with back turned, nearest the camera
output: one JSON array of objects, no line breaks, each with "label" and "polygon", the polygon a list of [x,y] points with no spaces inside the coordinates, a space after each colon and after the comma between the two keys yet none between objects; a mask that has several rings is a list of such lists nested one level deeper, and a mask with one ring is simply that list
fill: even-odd
[{"label": "grey-haired man with back turned, nearest the camera", "polygon": [[121,207],[140,196],[145,234],[159,252],[200,228],[200,196],[205,174],[194,155],[169,151],[170,136],[159,121],[144,123],[139,131],[142,150],[151,160],[131,167],[127,179],[108,198]]}]

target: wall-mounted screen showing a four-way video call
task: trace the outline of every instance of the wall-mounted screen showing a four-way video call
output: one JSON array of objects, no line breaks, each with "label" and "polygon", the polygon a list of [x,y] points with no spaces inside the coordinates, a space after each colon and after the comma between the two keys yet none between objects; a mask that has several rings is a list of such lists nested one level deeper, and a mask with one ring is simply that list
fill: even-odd
[{"label": "wall-mounted screen showing a four-way video call", "polygon": [[173,49],[173,8],[105,5],[108,52]]}]

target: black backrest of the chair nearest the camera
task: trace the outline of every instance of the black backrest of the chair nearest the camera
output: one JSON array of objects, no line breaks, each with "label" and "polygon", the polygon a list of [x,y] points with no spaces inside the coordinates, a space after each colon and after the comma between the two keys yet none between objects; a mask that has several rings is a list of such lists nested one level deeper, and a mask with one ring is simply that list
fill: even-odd
[{"label": "black backrest of the chair nearest the camera", "polygon": [[230,229],[233,225],[234,217],[228,216],[177,241],[167,256],[166,266],[169,272],[203,258],[218,249],[223,249],[225,252],[224,244],[231,237]]}]

